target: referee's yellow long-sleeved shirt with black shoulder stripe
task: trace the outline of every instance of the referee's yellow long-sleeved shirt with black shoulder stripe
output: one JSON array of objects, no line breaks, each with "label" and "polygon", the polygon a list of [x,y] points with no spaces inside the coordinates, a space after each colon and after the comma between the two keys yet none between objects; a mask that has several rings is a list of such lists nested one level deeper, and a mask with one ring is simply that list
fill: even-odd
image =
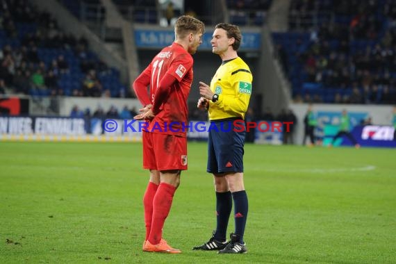
[{"label": "referee's yellow long-sleeved shirt with black shoulder stripe", "polygon": [[211,81],[211,90],[219,94],[219,99],[215,103],[209,101],[209,120],[244,119],[249,106],[251,81],[253,76],[242,58],[224,61]]}]

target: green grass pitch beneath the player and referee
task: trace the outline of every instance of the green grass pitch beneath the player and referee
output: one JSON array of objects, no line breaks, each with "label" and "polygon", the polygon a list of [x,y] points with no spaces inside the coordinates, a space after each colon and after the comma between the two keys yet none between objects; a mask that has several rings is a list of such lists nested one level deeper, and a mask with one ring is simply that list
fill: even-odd
[{"label": "green grass pitch beneath the player and referee", "polygon": [[206,144],[188,151],[171,255],[142,252],[140,143],[0,142],[0,263],[396,262],[395,149],[246,145],[238,256],[191,250],[215,229],[215,193]]}]

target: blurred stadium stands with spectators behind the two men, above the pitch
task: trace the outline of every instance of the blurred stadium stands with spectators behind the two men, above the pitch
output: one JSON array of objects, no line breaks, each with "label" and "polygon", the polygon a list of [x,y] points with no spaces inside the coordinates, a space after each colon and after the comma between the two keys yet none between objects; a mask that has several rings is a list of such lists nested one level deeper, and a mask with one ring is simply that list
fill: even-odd
[{"label": "blurred stadium stands with spectators behind the two men, above the pitch", "polygon": [[[343,108],[358,116],[352,118],[352,126],[370,123],[393,130],[393,1],[179,0],[172,1],[171,10],[169,1],[153,0],[2,3],[3,115],[11,113],[10,102],[4,100],[16,97],[23,101],[18,103],[24,106],[20,115],[80,117],[85,122],[92,116],[130,117],[127,111],[133,114],[140,107],[131,81],[158,49],[172,42],[176,17],[190,13],[206,23],[204,43],[195,55],[190,119],[206,119],[195,109],[197,83],[210,81],[220,63],[211,53],[210,39],[213,26],[226,21],[242,28],[240,56],[254,74],[250,119],[290,121],[288,113],[293,113],[292,143],[297,145],[302,144],[310,103],[327,120],[316,129],[317,138],[323,138],[324,126],[338,124]],[[21,134],[10,131],[9,119],[2,119],[2,124],[3,140]],[[256,143],[263,142],[260,137],[253,137]],[[279,144],[277,138],[283,135],[265,137],[264,143]],[[378,145],[393,147],[392,140],[388,143]]]}]

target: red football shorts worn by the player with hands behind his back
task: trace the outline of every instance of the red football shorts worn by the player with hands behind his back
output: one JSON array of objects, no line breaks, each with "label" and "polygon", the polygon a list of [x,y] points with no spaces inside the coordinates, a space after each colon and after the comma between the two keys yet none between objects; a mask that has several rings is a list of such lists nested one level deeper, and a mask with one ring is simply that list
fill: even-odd
[{"label": "red football shorts worn by the player with hands behind his back", "polygon": [[147,170],[187,170],[187,138],[142,131],[143,167]]}]

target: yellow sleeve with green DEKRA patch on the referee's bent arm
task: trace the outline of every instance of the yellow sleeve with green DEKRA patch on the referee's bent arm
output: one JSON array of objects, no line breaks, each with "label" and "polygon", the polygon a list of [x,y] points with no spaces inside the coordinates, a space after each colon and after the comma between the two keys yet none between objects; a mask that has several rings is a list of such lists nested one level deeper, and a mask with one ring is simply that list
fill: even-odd
[{"label": "yellow sleeve with green DEKRA patch on the referee's bent arm", "polygon": [[215,103],[209,101],[209,107],[222,108],[224,111],[236,115],[246,113],[251,95],[252,79],[250,72],[237,72],[231,78],[231,85],[236,90],[236,95],[234,97],[223,97],[220,94],[219,100]]}]

